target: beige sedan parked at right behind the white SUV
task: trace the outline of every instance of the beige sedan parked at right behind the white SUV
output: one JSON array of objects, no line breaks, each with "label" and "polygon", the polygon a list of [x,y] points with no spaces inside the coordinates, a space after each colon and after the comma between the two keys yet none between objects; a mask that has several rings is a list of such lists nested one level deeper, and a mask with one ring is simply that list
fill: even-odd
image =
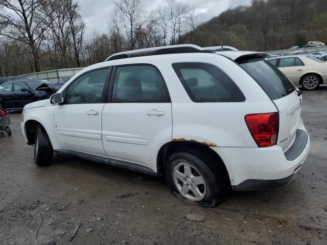
[{"label": "beige sedan parked at right behind the white SUV", "polygon": [[313,56],[299,55],[268,59],[296,86],[313,90],[327,82],[327,63]]}]

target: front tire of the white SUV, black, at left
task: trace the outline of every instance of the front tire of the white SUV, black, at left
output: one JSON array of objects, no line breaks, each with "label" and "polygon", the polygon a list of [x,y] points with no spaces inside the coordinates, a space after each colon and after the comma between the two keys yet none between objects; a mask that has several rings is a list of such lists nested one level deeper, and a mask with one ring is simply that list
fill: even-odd
[{"label": "front tire of the white SUV, black, at left", "polygon": [[34,162],[39,166],[50,165],[53,157],[53,148],[42,126],[38,126],[34,144]]}]

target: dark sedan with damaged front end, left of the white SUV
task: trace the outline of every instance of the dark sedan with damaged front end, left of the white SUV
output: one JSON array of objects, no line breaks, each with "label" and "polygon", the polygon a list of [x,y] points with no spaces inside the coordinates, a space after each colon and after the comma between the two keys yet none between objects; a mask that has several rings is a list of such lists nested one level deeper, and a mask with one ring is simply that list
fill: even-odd
[{"label": "dark sedan with damaged front end, left of the white SUV", "polygon": [[0,90],[0,106],[6,110],[21,110],[31,102],[49,99],[50,95],[59,89],[38,90],[37,87],[42,84],[51,86],[50,82],[44,83],[43,80],[11,81],[1,84],[4,90]]}]

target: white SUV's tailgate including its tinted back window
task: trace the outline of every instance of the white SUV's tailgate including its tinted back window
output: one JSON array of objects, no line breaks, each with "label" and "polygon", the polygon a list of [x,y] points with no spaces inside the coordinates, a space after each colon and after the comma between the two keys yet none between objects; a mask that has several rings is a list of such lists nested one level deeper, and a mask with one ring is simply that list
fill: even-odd
[{"label": "white SUV's tailgate including its tinted back window", "polygon": [[[277,145],[285,152],[293,142],[301,114],[302,96],[285,75],[264,59],[236,60],[262,87],[278,109]],[[267,111],[268,113],[269,111]]]}]

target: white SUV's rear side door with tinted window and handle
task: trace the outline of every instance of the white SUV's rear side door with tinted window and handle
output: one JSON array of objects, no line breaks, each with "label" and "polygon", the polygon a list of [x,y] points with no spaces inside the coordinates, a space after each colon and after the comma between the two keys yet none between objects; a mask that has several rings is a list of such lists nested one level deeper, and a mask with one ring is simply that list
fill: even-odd
[{"label": "white SUV's rear side door with tinted window and handle", "polygon": [[[110,79],[102,113],[102,141],[109,158],[144,165],[172,135],[171,102],[165,81],[150,65],[119,66]],[[110,90],[111,91],[111,90]]]}]

